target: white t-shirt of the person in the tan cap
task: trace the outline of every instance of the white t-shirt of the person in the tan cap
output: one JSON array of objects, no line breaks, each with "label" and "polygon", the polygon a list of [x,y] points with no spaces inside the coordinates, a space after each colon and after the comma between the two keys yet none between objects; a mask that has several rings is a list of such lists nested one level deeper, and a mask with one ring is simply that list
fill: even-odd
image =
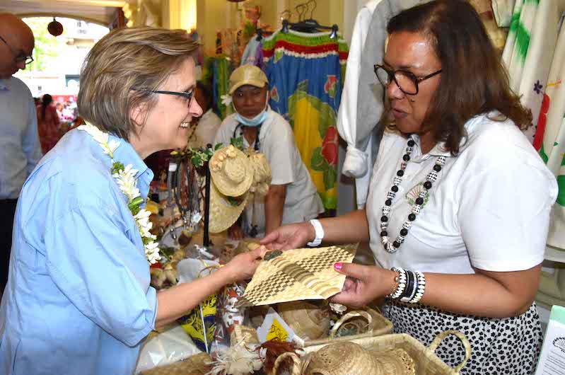
[{"label": "white t-shirt of the person in the tan cap", "polygon": [[[235,114],[226,117],[216,134],[214,144],[228,145],[232,137],[240,137],[241,127],[237,130],[236,127],[238,121],[235,120]],[[267,119],[261,125],[259,141],[259,152],[265,155],[271,166],[271,185],[286,185],[282,224],[314,219],[324,212],[322,200],[294,143],[289,122],[269,109]],[[243,144],[245,147],[252,146],[247,144],[245,137]],[[265,231],[264,198],[257,198],[255,204],[248,204],[245,208],[244,229],[250,229],[252,222],[257,224],[259,236],[262,236]]]}]

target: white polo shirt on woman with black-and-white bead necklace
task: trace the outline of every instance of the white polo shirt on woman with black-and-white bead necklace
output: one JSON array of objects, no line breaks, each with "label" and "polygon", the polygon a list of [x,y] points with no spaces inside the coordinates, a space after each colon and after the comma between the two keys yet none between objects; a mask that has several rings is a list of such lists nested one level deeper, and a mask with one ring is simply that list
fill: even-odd
[{"label": "white polo shirt on woman with black-and-white bead necklace", "polygon": [[404,243],[392,254],[380,240],[380,217],[407,139],[388,132],[383,136],[366,207],[371,249],[382,267],[469,274],[473,267],[505,272],[542,262],[549,212],[558,191],[554,175],[510,120],[478,115],[465,128],[468,139],[457,157],[441,144],[422,155],[419,137],[412,136],[416,145],[390,206],[390,241],[395,241],[424,190],[436,156],[447,160]]}]

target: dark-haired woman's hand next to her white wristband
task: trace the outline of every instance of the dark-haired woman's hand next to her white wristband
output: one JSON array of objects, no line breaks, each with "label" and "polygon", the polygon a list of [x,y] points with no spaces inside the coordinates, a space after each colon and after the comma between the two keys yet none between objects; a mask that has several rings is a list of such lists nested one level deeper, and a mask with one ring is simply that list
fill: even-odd
[{"label": "dark-haired woman's hand next to her white wristband", "polygon": [[298,224],[280,226],[267,234],[261,241],[261,245],[267,246],[269,250],[291,250],[303,248],[306,243],[313,241],[316,231],[310,221]]}]

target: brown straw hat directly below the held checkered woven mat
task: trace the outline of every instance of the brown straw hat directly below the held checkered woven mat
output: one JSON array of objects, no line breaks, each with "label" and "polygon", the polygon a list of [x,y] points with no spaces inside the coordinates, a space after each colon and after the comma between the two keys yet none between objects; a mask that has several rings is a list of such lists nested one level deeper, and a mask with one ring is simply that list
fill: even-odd
[{"label": "brown straw hat directly below the held checkered woven mat", "polygon": [[303,340],[327,337],[330,331],[330,305],[306,301],[285,302],[277,305],[279,315]]}]

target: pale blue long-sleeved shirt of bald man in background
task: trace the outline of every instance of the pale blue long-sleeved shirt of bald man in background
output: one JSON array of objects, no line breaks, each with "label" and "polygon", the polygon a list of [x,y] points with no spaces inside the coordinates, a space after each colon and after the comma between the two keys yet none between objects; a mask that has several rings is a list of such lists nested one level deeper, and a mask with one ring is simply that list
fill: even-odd
[{"label": "pale blue long-sleeved shirt of bald man in background", "polygon": [[16,77],[0,79],[0,200],[20,195],[41,156],[30,89]]}]

